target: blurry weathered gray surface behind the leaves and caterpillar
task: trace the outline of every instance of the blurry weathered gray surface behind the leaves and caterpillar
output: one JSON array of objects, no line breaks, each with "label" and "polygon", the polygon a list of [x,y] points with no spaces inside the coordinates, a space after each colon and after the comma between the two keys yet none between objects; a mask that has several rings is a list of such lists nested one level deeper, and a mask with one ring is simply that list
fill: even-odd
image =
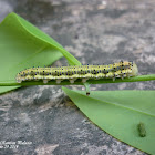
[{"label": "blurry weathered gray surface behind the leaves and caterpillar", "polygon": [[[83,64],[132,60],[140,74],[155,73],[154,0],[0,0],[0,21],[11,11],[53,37]],[[135,89],[154,90],[155,82],[92,86]],[[17,149],[0,148],[0,155],[145,154],[91,123],[61,86],[29,86],[0,95],[0,143],[24,142]]]}]

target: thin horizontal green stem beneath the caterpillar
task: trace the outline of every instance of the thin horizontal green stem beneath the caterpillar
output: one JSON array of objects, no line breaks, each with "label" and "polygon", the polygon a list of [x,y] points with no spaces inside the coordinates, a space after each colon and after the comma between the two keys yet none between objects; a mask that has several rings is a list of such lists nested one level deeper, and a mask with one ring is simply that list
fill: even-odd
[{"label": "thin horizontal green stem beneath the caterpillar", "polygon": [[[149,75],[140,75],[130,79],[100,79],[100,80],[87,80],[90,84],[106,84],[106,83],[121,83],[121,82],[140,82],[140,81],[152,81],[155,80],[155,74]],[[29,86],[29,85],[83,85],[81,80],[76,80],[74,83],[70,83],[70,81],[64,80],[61,83],[56,83],[55,81],[49,81],[48,83],[43,83],[42,81],[25,81],[22,83],[17,83],[14,81],[0,82],[0,86]]]}]

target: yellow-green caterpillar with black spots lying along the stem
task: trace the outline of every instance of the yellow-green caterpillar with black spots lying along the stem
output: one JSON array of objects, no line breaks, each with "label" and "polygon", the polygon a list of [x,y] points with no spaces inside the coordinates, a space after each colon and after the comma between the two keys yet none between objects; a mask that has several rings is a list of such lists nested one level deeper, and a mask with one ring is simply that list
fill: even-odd
[{"label": "yellow-green caterpillar with black spots lying along the stem", "polygon": [[63,80],[74,83],[81,79],[85,83],[89,79],[113,79],[136,76],[138,73],[137,65],[134,62],[121,61],[107,65],[75,65],[75,66],[56,66],[56,68],[31,68],[25,69],[17,74],[17,82],[31,80],[42,80],[48,83],[55,80],[56,84]]}]

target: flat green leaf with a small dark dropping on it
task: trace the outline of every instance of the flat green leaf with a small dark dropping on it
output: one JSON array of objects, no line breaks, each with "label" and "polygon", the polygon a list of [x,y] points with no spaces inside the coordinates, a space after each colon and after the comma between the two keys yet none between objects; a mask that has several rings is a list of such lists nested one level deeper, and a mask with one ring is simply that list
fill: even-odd
[{"label": "flat green leaf with a small dark dropping on it", "polygon": [[[155,154],[155,91],[85,92],[63,87],[76,106],[99,127],[138,149]],[[141,137],[138,124],[145,125]]]}]

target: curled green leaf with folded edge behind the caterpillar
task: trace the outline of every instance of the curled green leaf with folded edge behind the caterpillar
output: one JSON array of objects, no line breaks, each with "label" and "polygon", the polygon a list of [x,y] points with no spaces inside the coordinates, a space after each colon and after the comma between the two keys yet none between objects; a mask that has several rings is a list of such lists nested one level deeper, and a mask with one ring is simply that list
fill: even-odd
[{"label": "curled green leaf with folded edge behind the caterpillar", "polygon": [[[70,65],[81,64],[56,41],[18,14],[10,13],[0,23],[0,82],[16,81],[21,70],[49,65],[62,56]],[[16,87],[1,86],[0,93]]]}]

